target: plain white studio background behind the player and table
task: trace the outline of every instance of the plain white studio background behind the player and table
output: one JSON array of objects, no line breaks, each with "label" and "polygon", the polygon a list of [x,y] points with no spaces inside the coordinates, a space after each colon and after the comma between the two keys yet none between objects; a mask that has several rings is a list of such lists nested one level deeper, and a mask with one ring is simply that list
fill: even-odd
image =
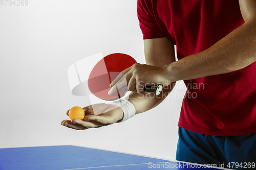
[{"label": "plain white studio background behind the player and table", "polygon": [[71,94],[70,65],[98,53],[145,63],[137,0],[28,2],[0,5],[0,148],[71,144],[174,160],[183,82],[124,123],[85,131],[60,125],[68,109],[89,103]]}]

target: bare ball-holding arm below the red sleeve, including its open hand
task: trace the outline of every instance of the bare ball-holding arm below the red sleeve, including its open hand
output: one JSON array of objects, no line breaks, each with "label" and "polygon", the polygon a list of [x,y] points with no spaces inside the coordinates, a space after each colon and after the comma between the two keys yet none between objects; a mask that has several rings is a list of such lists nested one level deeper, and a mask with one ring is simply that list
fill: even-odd
[{"label": "bare ball-holding arm below the red sleeve, including its open hand", "polygon": [[[167,38],[156,38],[144,41],[146,63],[155,66],[163,66],[175,61],[174,45]],[[169,87],[165,87],[157,98],[156,96],[142,96],[138,93],[131,93],[129,101],[136,108],[136,113],[145,112],[159,105],[172,91],[175,83]],[[88,128],[98,128],[106,125],[111,125],[122,119],[123,111],[121,108],[110,109],[110,104],[94,104],[84,107],[86,116],[82,120],[74,118],[72,120],[62,120],[61,125],[76,130],[84,130]],[[113,107],[113,106],[112,106]],[[99,115],[94,115],[95,112],[102,112]],[[67,115],[69,110],[67,111]]]}]

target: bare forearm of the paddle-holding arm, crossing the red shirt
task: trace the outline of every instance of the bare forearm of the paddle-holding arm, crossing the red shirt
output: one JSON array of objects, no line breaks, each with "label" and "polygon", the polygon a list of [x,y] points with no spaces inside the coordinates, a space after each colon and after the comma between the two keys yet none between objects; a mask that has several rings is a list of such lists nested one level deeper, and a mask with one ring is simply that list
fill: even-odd
[{"label": "bare forearm of the paddle-holding arm, crossing the red shirt", "polygon": [[256,61],[256,19],[245,22],[200,53],[166,66],[170,82],[225,74]]}]

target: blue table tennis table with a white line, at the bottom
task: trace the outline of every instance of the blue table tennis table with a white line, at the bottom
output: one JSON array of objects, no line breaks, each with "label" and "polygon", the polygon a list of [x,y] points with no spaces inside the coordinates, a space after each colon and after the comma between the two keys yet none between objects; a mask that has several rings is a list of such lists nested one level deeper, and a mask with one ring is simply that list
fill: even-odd
[{"label": "blue table tennis table with a white line, at the bottom", "polygon": [[0,149],[0,169],[220,169],[73,145]]}]

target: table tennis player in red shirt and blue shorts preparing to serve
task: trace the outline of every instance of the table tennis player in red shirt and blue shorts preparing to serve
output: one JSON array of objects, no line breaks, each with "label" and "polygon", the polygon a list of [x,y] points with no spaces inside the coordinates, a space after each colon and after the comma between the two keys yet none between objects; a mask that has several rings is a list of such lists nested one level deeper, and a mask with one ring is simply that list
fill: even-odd
[{"label": "table tennis player in red shirt and blue shorts preparing to serve", "polygon": [[[147,65],[123,71],[133,92],[129,102],[134,112],[150,110],[166,97],[148,97],[152,94],[143,92],[146,85],[162,84],[161,93],[168,94],[176,81],[184,80],[188,91],[178,124],[176,159],[251,168],[248,165],[256,162],[256,1],[139,0],[138,18]],[[113,88],[110,94],[114,92]],[[188,97],[192,93],[195,98]],[[73,129],[105,126],[122,121],[133,106],[99,116],[91,106],[85,107],[84,120],[61,124]]]}]

